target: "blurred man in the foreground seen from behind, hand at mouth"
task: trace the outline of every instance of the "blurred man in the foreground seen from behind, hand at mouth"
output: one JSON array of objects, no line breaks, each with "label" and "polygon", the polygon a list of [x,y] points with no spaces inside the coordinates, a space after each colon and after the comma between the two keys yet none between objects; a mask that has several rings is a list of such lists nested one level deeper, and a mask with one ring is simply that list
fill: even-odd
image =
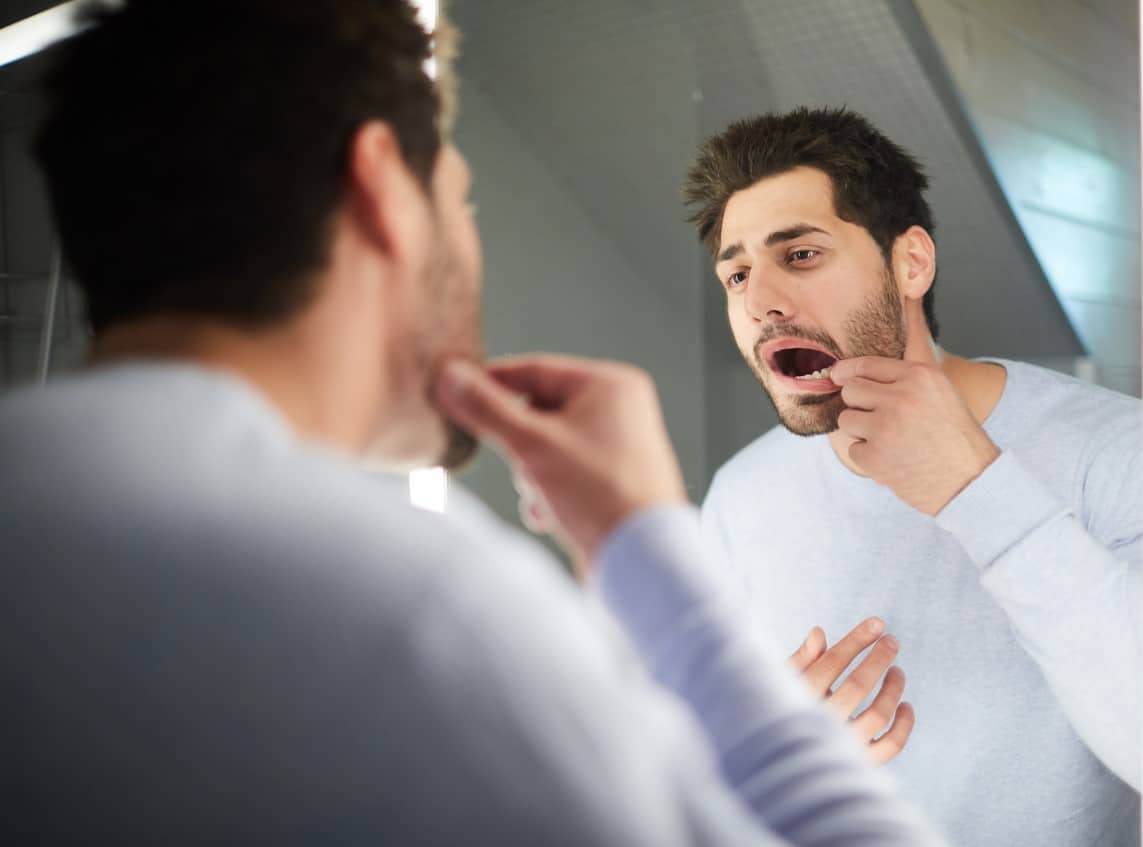
[{"label": "blurred man in the foreground seen from behind, hand at mouth", "polygon": [[[64,48],[38,154],[96,336],[0,403],[3,841],[934,842],[704,576],[646,376],[475,363],[427,56],[398,0],[135,0]],[[465,431],[646,679],[537,546],[357,463]]]}]

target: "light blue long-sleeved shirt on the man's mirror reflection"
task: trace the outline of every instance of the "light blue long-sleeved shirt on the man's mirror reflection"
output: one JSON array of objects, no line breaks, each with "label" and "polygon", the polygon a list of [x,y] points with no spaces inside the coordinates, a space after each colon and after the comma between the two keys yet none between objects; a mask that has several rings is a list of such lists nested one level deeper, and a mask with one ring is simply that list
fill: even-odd
[{"label": "light blue long-sleeved shirt on the man's mirror reflection", "polygon": [[885,618],[917,710],[887,767],[953,842],[1135,847],[1143,406],[1000,363],[1002,454],[936,519],[774,430],[717,474],[705,537],[786,653]]}]

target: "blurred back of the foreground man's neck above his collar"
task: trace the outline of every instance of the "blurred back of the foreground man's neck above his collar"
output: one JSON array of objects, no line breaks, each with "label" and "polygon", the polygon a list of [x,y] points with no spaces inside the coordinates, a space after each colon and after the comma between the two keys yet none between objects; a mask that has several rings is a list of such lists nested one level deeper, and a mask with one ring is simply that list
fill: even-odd
[{"label": "blurred back of the foreground man's neck above his collar", "polygon": [[[304,319],[245,329],[189,315],[149,317],[117,323],[95,339],[90,363],[170,360],[237,376],[266,398],[303,438],[360,453],[369,438],[374,398],[349,384],[336,351],[314,343]],[[343,375],[338,378],[338,375]]]}]

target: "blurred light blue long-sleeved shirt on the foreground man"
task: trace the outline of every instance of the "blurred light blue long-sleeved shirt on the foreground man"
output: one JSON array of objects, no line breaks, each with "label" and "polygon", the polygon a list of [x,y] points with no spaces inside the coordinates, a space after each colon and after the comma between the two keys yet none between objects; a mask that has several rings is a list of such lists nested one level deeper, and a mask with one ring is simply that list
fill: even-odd
[{"label": "blurred light blue long-sleeved shirt on the foreground man", "polygon": [[640,513],[591,589],[173,365],[0,400],[8,844],[927,845]]}]

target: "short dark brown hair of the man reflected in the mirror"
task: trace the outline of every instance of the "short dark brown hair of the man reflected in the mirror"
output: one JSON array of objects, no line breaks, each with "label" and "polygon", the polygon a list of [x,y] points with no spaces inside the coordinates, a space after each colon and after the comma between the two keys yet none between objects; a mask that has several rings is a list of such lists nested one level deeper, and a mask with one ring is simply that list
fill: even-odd
[{"label": "short dark brown hair of the man reflected in the mirror", "polygon": [[[934,233],[925,200],[928,177],[918,161],[865,118],[847,109],[796,109],[736,121],[708,138],[687,171],[684,198],[698,237],[714,255],[730,195],[759,179],[798,167],[817,168],[833,184],[838,217],[863,226],[885,261],[910,226]],[[925,294],[934,339],[936,279]]]}]

